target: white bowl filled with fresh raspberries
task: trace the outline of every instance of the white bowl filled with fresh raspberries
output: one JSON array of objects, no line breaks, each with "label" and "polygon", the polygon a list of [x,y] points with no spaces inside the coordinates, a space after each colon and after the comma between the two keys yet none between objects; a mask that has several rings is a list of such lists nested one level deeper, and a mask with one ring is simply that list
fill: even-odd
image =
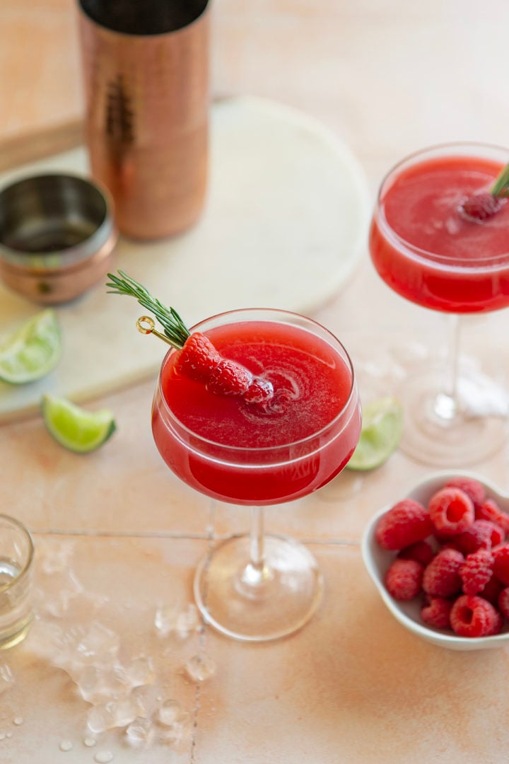
[{"label": "white bowl filled with fresh raspberries", "polygon": [[379,512],[362,557],[382,600],[417,636],[456,650],[509,643],[509,497],[440,472]]}]

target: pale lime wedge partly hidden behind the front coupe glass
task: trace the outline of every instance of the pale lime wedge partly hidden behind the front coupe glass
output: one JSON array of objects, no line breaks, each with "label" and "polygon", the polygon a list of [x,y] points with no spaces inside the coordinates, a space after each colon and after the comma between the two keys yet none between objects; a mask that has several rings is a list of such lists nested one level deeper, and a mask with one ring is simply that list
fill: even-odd
[{"label": "pale lime wedge partly hidden behind the front coupe glass", "polygon": [[401,403],[395,398],[372,400],[362,410],[359,443],[347,468],[364,471],[383,465],[398,448],[402,432]]}]

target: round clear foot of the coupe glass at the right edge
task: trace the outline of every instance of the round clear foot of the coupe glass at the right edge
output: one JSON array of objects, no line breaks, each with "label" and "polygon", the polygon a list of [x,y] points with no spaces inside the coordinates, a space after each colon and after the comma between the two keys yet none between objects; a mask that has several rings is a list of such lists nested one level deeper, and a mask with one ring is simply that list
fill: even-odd
[{"label": "round clear foot of the coupe glass at the right edge", "polygon": [[509,397],[482,374],[457,380],[457,395],[443,393],[438,371],[405,380],[398,398],[404,406],[401,451],[436,467],[464,467],[484,461],[507,439]]}]

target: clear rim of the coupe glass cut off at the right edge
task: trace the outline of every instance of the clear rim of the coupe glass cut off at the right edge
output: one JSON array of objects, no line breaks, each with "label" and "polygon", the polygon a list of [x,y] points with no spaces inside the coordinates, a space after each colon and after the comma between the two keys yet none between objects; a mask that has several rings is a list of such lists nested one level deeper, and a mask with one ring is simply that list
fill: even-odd
[{"label": "clear rim of the coupe glass cut off at the right edge", "polygon": [[[475,266],[480,267],[483,266],[483,270],[486,269],[488,266],[496,267],[499,263],[507,261],[507,256],[509,255],[509,249],[507,249],[506,252],[502,252],[501,254],[495,255],[495,257],[476,257],[475,259],[472,259],[469,261],[469,265],[467,267],[457,265],[457,260],[455,257],[448,257],[443,254],[437,254],[436,252],[432,252],[427,249],[423,249],[421,247],[417,247],[416,244],[412,244],[411,241],[408,241],[408,239],[404,238],[403,236],[399,235],[394,228],[392,228],[391,224],[388,222],[387,218],[385,217],[385,212],[383,210],[383,204],[382,204],[382,193],[384,191],[385,185],[388,183],[388,180],[391,179],[391,176],[397,177],[399,174],[399,170],[401,170],[402,167],[411,164],[414,162],[414,160],[419,160],[420,157],[425,157],[427,154],[432,154],[433,152],[437,151],[446,151],[446,150],[461,150],[461,149],[484,149],[485,151],[502,151],[507,155],[507,162],[509,162],[509,147],[501,146],[499,144],[490,144],[490,143],[483,143],[482,141],[445,141],[443,143],[439,144],[430,144],[428,146],[425,146],[423,148],[417,149],[415,151],[411,151],[409,154],[406,154],[404,157],[402,157],[398,162],[393,164],[387,172],[382,176],[382,180],[379,183],[379,189],[376,194],[376,208],[375,208],[375,216],[379,219],[379,225],[384,231],[384,235],[386,235],[388,238],[391,238],[392,241],[398,242],[398,244],[401,244],[404,248],[408,249],[412,254],[414,254],[417,257],[422,257],[425,261],[433,261],[434,264],[440,265],[446,265],[450,263],[455,263],[456,266],[459,268],[459,270],[467,270],[471,271],[474,270]],[[462,156],[462,154],[457,154],[457,156]],[[464,154],[465,157],[472,156],[472,152],[470,154]],[[477,154],[478,157],[482,158],[482,155],[479,153]],[[506,162],[506,163],[507,163]],[[509,203],[509,200],[507,200],[507,203]]]}]

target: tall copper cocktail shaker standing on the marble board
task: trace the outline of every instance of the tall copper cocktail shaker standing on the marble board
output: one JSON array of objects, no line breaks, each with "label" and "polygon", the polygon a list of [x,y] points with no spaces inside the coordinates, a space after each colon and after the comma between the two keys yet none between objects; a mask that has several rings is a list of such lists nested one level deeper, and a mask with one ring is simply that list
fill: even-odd
[{"label": "tall copper cocktail shaker standing on the marble board", "polygon": [[85,137],[125,235],[162,238],[203,209],[208,0],[79,0]]}]

